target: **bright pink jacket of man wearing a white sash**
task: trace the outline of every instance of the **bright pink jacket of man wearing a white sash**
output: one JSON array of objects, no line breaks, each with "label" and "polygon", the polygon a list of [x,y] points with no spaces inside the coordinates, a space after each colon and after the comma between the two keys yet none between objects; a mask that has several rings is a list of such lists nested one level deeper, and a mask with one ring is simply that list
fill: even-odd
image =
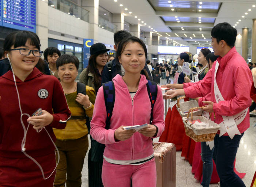
[{"label": "bright pink jacket of man wearing a white sash", "polygon": [[[222,115],[231,116],[238,114],[251,105],[250,89],[252,85],[252,74],[244,58],[237,53],[233,47],[224,56],[217,59],[219,68],[216,81],[225,101],[216,103],[214,95],[214,72],[216,62],[206,74],[203,80],[188,88],[184,88],[185,95],[189,98],[203,97],[211,92],[211,101],[216,119],[212,121],[221,123]],[[249,111],[245,119],[237,126],[240,133],[243,133],[250,126]],[[218,131],[219,133],[219,131]],[[224,134],[227,136],[227,133]]]}]

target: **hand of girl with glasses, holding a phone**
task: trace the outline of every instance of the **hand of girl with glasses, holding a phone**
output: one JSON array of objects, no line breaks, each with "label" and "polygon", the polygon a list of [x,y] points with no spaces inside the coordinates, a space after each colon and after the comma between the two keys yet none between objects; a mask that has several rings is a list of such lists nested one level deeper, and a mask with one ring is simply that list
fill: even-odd
[{"label": "hand of girl with glasses, holding a phone", "polygon": [[35,130],[39,130],[49,124],[51,124],[53,121],[53,115],[47,112],[46,110],[42,110],[42,115],[38,116],[32,116],[27,118],[27,122],[31,125],[34,125],[33,128]]}]

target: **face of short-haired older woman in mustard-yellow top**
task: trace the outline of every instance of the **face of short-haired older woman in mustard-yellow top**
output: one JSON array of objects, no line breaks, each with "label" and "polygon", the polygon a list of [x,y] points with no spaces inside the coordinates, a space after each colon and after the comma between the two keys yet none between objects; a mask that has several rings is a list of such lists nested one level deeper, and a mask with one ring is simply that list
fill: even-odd
[{"label": "face of short-haired older woman in mustard-yellow top", "polygon": [[61,82],[71,83],[76,80],[78,70],[76,69],[76,66],[73,63],[63,64],[58,68],[58,75]]}]

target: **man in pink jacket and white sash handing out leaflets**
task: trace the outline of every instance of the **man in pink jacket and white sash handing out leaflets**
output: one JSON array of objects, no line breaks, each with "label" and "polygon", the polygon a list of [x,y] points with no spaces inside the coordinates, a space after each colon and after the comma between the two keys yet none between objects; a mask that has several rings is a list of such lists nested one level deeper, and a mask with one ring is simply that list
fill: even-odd
[{"label": "man in pink jacket and white sash handing out leaflets", "polygon": [[203,97],[211,93],[210,101],[204,101],[203,109],[215,112],[212,120],[221,127],[214,138],[215,163],[221,186],[245,187],[234,173],[233,163],[244,131],[249,128],[252,75],[244,58],[237,53],[234,43],[237,31],[229,23],[219,23],[211,31],[212,48],[219,58],[200,83],[191,87],[170,90],[165,99],[177,95],[189,98]]}]

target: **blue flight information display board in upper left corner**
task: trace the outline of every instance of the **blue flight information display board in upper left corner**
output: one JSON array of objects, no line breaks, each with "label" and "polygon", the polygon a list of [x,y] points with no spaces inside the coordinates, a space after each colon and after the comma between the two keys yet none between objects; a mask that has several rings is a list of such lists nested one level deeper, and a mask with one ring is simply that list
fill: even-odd
[{"label": "blue flight information display board in upper left corner", "polygon": [[36,32],[36,0],[0,0],[0,26]]}]

